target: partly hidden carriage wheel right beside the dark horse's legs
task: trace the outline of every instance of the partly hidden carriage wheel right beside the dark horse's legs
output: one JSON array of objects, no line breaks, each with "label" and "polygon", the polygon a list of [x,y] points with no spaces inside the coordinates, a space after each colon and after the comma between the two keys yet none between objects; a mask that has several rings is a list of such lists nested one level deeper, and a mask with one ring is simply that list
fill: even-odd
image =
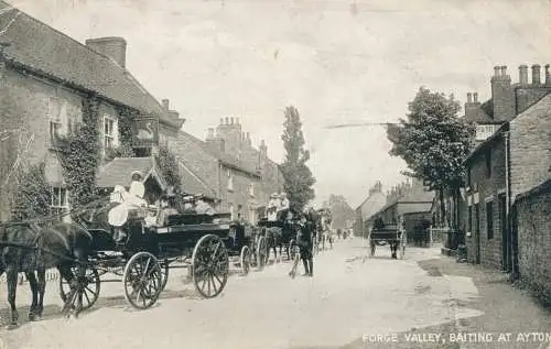
[{"label": "partly hidden carriage wheel right beside the dark horse's legs", "polygon": [[[78,298],[82,299],[83,310],[89,309],[99,297],[99,273],[98,271],[91,266],[86,268],[84,276],[77,277],[78,266],[73,266],[71,269],[73,273],[73,277],[77,279],[76,283],[76,294],[73,296],[72,305],[76,306],[76,301]],[[60,275],[60,296],[64,303],[67,302],[67,296],[71,293],[71,286],[67,280],[65,280],[62,275]]]}]

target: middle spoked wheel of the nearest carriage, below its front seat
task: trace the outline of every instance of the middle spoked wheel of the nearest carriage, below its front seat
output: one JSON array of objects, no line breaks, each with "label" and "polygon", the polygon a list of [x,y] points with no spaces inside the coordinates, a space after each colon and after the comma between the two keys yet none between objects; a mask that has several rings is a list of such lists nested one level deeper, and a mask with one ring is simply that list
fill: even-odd
[{"label": "middle spoked wheel of the nearest carriage, below its front seat", "polygon": [[153,254],[138,252],[127,262],[122,282],[127,302],[137,309],[147,309],[155,304],[162,291],[161,265]]}]

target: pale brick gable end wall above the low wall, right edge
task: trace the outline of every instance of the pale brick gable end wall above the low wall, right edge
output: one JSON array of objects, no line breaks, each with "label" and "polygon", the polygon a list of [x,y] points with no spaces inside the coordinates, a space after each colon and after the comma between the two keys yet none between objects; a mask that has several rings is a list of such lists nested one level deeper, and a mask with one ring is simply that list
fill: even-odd
[{"label": "pale brick gable end wall above the low wall, right edge", "polygon": [[510,123],[511,197],[550,177],[551,95]]}]

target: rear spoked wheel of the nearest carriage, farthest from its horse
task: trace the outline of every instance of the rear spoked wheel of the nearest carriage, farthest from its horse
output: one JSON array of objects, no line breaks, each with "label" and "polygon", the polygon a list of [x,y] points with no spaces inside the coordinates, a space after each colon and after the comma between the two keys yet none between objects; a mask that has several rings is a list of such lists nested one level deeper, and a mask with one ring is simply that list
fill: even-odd
[{"label": "rear spoked wheel of the nearest carriage, farthest from its horse", "polygon": [[199,239],[192,255],[195,288],[205,298],[216,297],[228,281],[229,259],[224,242],[214,235]]}]

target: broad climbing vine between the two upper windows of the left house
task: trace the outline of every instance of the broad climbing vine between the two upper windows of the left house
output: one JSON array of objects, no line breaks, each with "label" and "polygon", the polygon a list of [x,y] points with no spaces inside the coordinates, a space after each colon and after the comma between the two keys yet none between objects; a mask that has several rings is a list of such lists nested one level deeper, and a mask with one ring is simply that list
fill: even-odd
[{"label": "broad climbing vine between the two upper windows of the left house", "polygon": [[58,137],[56,149],[63,177],[73,207],[86,205],[97,197],[96,173],[100,163],[99,101],[89,97],[83,101],[83,123],[76,131]]}]

